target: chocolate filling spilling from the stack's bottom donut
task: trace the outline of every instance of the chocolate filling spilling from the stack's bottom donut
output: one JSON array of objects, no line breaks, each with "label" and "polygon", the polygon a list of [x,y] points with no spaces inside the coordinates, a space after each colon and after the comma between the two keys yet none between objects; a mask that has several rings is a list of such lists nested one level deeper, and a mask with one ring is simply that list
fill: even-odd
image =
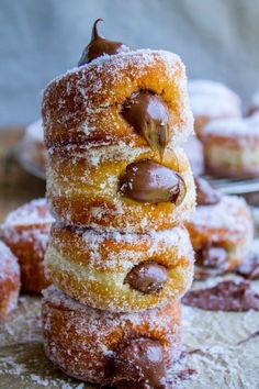
[{"label": "chocolate filling spilling from the stack's bottom donut", "polygon": [[169,389],[159,341],[147,337],[130,340],[117,347],[109,365],[114,388]]}]

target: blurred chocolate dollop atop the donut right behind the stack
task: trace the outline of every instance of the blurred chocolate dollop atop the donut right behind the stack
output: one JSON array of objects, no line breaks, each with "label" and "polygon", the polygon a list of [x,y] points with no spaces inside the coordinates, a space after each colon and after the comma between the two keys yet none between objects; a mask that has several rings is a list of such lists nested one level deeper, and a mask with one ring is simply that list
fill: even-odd
[{"label": "blurred chocolate dollop atop the donut right behind the stack", "polygon": [[195,178],[198,205],[213,205],[221,201],[221,193],[216,191],[205,179]]}]

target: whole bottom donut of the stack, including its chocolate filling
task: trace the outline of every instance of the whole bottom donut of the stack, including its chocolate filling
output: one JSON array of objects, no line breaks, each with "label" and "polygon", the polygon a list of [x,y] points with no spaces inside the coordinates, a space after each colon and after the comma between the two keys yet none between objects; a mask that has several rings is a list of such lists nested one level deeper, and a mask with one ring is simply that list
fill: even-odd
[{"label": "whole bottom donut of the stack, including its chocolate filling", "polygon": [[140,313],[112,313],[81,304],[55,287],[44,291],[44,348],[68,376],[115,388],[166,388],[180,355],[179,302]]}]

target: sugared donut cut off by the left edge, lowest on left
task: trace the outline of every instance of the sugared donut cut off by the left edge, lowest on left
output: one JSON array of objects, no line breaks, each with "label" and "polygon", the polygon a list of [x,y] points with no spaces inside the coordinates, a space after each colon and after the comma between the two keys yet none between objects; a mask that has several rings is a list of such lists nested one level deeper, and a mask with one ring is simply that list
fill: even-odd
[{"label": "sugared donut cut off by the left edge, lowest on left", "polygon": [[16,308],[20,292],[20,268],[16,257],[0,241],[0,322]]}]

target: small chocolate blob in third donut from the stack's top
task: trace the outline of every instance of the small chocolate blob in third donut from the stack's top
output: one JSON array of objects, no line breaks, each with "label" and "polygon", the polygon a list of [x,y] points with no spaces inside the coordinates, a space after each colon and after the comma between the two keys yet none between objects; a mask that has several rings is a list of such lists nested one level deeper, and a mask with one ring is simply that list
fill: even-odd
[{"label": "small chocolate blob in third donut from the stack's top", "polygon": [[131,288],[148,294],[161,290],[167,279],[167,268],[150,259],[134,266],[124,282],[128,284]]}]

